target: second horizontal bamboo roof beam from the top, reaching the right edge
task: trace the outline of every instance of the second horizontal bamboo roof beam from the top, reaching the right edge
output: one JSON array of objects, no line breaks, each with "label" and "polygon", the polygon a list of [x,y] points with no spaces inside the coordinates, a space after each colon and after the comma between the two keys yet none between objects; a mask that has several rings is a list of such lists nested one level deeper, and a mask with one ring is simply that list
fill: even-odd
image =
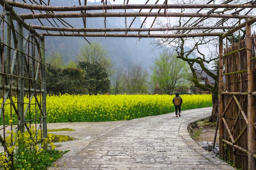
[{"label": "second horizontal bamboo roof beam from the top, reaching the right edge", "polygon": [[79,18],[79,17],[207,17],[207,18],[254,18],[255,15],[235,15],[219,13],[158,13],[158,12],[93,12],[93,13],[25,13],[19,16],[26,19],[38,18]]}]

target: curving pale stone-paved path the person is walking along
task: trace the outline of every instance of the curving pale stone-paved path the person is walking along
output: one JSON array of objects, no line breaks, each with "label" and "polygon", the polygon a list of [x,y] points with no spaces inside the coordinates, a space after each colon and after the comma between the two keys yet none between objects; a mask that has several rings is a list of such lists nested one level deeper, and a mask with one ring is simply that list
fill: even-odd
[{"label": "curving pale stone-paved path the person is walking along", "polygon": [[201,148],[187,125],[211,116],[211,107],[128,121],[47,124],[75,140],[58,144],[70,150],[48,170],[235,170]]}]

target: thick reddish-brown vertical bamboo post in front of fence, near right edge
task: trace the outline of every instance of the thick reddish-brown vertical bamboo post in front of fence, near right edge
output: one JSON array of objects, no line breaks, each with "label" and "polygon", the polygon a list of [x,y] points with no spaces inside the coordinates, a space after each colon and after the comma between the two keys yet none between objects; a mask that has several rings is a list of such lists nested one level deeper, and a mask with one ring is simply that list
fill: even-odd
[{"label": "thick reddish-brown vertical bamboo post in front of fence, near right edge", "polygon": [[254,88],[254,67],[251,64],[252,58],[252,33],[251,25],[247,24],[246,19],[245,31],[246,31],[246,53],[247,53],[247,76],[248,76],[248,170],[256,169],[256,159],[253,157],[256,154],[256,130],[254,129],[255,112],[252,112],[252,105],[254,102],[254,96],[252,96]]}]

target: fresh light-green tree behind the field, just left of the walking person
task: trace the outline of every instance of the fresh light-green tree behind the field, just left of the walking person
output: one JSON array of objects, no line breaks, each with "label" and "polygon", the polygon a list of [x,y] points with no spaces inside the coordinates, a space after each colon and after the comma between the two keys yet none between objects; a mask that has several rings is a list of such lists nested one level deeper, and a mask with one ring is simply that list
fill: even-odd
[{"label": "fresh light-green tree behind the field, just left of the walking person", "polygon": [[159,58],[154,59],[150,66],[153,71],[151,79],[158,83],[164,94],[173,94],[175,88],[186,85],[189,76],[189,66],[185,61],[174,57],[170,52],[164,51]]}]

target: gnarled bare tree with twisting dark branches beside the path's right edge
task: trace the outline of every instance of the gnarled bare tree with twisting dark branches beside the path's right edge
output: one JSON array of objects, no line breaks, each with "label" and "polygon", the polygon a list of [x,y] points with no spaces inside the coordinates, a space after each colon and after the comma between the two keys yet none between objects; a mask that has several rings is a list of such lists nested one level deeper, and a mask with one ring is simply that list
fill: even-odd
[{"label": "gnarled bare tree with twisting dark branches beside the path's right edge", "polygon": [[[179,1],[179,3],[186,4],[186,1]],[[199,3],[198,0],[190,1],[191,4]],[[180,9],[181,13],[188,12],[191,9]],[[186,11],[185,11],[186,10]],[[168,18],[167,23],[164,20],[157,20],[157,25],[159,27],[167,26],[198,26],[198,25],[211,25],[212,20],[207,20],[206,18],[182,18],[180,17],[177,21],[173,21],[172,18]],[[174,25],[173,25],[174,24]],[[204,30],[178,30],[172,31],[173,34],[180,33],[199,33]],[[155,41],[155,47],[162,48],[168,47],[176,52],[177,58],[186,61],[189,64],[190,70],[193,75],[193,83],[195,86],[203,90],[209,90],[212,94],[213,109],[211,114],[211,121],[216,121],[218,116],[218,83],[214,86],[209,84],[200,84],[198,74],[196,70],[203,70],[209,76],[211,76],[215,82],[218,82],[218,72],[217,75],[213,74],[210,70],[213,70],[213,65],[218,61],[217,53],[218,37],[187,37],[187,38],[164,38],[157,39]]]}]

